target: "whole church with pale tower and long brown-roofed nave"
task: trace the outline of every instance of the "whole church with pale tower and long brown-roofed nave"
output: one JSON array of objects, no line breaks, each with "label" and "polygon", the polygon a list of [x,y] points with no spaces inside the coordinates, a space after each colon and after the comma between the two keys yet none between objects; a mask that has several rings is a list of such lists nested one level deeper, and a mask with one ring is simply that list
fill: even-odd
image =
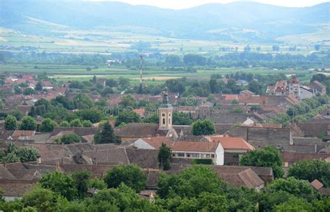
[{"label": "whole church with pale tower and long brown-roofed nave", "polygon": [[189,130],[190,126],[173,126],[173,106],[168,101],[167,88],[163,92],[163,101],[158,108],[159,123],[127,123],[116,135],[123,141],[141,137],[172,137],[177,139]]}]

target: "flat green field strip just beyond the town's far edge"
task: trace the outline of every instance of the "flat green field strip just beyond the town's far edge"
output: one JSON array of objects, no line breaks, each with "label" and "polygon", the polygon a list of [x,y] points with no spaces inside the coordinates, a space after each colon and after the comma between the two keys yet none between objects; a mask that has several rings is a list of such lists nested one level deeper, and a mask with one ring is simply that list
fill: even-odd
[{"label": "flat green field strip just beyond the town's far edge", "polygon": [[[58,82],[66,82],[68,80],[89,80],[96,75],[102,78],[113,78],[118,79],[119,77],[129,78],[131,84],[139,84],[139,70],[129,70],[123,66],[118,67],[100,67],[93,70],[86,70],[86,66],[61,66],[61,65],[40,65],[38,68],[34,68],[36,65],[30,66],[18,66],[18,65],[0,65],[0,72],[7,73],[31,73],[40,74],[47,73],[47,76],[56,79]],[[278,74],[284,73],[285,75],[298,74],[299,79],[302,82],[308,82],[313,75],[311,70],[273,70],[269,68],[215,68],[213,70],[202,68],[198,69],[197,73],[185,73],[185,72],[174,72],[166,71],[161,67],[148,67],[148,70],[143,70],[143,82],[147,84],[159,84],[166,79],[172,79],[175,77],[189,77],[194,79],[210,79],[212,74],[226,75],[230,73],[244,72],[253,74]]]}]

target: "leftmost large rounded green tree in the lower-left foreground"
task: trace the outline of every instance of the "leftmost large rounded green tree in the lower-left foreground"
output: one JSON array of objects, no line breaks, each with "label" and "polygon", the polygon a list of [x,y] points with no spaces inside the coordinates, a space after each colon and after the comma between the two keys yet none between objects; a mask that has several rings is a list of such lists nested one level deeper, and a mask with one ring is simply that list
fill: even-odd
[{"label": "leftmost large rounded green tree in the lower-left foreground", "polygon": [[52,190],[69,201],[78,195],[74,179],[72,179],[70,174],[63,174],[61,172],[48,173],[46,176],[42,176],[39,183],[42,188]]}]

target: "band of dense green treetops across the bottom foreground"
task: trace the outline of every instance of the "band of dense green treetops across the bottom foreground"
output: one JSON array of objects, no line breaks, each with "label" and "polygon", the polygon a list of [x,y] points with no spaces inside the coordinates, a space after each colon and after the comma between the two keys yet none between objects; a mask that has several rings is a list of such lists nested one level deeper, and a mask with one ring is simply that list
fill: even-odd
[{"label": "band of dense green treetops across the bottom foreground", "polygon": [[[132,166],[132,165],[130,165]],[[133,165],[134,166],[134,165]],[[130,167],[132,174],[136,167]],[[137,170],[137,169],[136,169]],[[177,174],[161,174],[154,201],[136,195],[124,181],[125,171],[118,169],[121,182],[107,189],[107,178],[93,179],[86,171],[42,176],[36,188],[19,200],[0,201],[3,211],[311,211],[327,212],[329,197],[322,197],[306,181],[276,179],[260,192],[233,188],[218,179],[211,167],[194,166]],[[111,169],[109,170],[111,172]],[[139,170],[140,174],[141,169]],[[135,176],[135,175],[134,175]],[[146,177],[146,176],[145,176]],[[143,181],[146,178],[143,178]],[[131,184],[136,185],[136,184]],[[112,187],[112,186],[111,186]],[[88,188],[98,191],[91,197]]]}]

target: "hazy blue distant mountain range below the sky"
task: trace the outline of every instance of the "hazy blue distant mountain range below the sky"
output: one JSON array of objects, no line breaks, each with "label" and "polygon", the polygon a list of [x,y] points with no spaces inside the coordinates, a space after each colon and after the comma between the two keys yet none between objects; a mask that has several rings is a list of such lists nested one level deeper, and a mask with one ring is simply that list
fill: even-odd
[{"label": "hazy blue distant mountain range below the sky", "polygon": [[56,27],[134,31],[173,37],[272,42],[314,33],[330,22],[330,3],[286,8],[255,2],[210,3],[183,10],[120,2],[0,1],[0,27],[42,34]]}]

